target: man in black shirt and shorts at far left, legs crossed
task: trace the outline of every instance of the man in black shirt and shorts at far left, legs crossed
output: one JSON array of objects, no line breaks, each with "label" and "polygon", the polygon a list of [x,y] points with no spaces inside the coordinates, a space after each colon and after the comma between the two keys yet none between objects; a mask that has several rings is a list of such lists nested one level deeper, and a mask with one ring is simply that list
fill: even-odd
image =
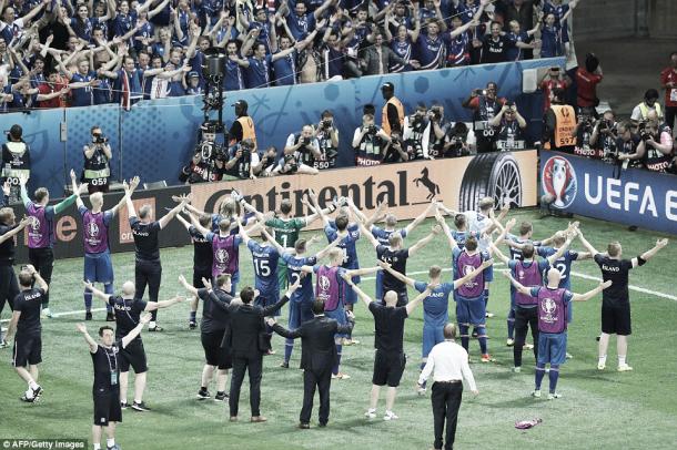
[{"label": "man in black shirt and shorts at far left, legs crossed", "polygon": [[[33,287],[33,284],[38,287]],[[21,400],[32,403],[42,392],[42,388],[38,385],[38,365],[42,362],[40,310],[48,286],[31,265],[21,269],[19,286],[21,293],[14,297],[14,311],[9,323],[7,339],[11,339],[16,331],[12,366],[19,377],[28,383],[28,390]]]}]

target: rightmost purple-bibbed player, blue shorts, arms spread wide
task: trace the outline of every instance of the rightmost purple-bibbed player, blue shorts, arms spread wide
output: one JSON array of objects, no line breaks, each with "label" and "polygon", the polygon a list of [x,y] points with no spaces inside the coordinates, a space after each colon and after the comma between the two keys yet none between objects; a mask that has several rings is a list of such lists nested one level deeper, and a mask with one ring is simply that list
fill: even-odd
[{"label": "rightmost purple-bibbed player, blue shorts, arms spread wide", "polygon": [[[555,258],[556,259],[556,258]],[[612,280],[600,283],[596,288],[585,294],[575,294],[568,289],[559,287],[562,273],[556,267],[547,270],[547,283],[545,286],[524,286],[517,282],[509,272],[504,273],[515,286],[517,294],[529,296],[536,299],[536,310],[538,319],[538,357],[536,359],[536,387],[533,396],[540,397],[540,382],[545,377],[545,366],[549,368],[549,393],[548,399],[553,400],[562,397],[557,392],[557,380],[559,379],[559,366],[566,361],[566,338],[567,338],[567,306],[569,301],[586,301],[603,289],[612,286]]]}]

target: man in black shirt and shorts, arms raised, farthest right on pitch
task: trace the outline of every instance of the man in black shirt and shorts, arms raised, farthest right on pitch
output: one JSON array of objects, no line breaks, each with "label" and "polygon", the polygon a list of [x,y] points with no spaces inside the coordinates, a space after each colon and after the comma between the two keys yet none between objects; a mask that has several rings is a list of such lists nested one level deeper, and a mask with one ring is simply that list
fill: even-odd
[{"label": "man in black shirt and shorts, arms raised, farthest right on pitch", "polygon": [[628,350],[627,337],[633,333],[628,273],[631,268],[644,266],[659,249],[668,245],[668,239],[658,239],[654,248],[646,250],[633,259],[620,259],[623,248],[619,242],[609,243],[605,255],[597,252],[583,237],[583,234],[578,233],[578,238],[602,269],[602,279],[604,282],[609,279],[613,282],[610,287],[602,292],[602,336],[599,336],[597,369],[604,370],[606,368],[606,350],[609,346],[609,337],[610,335],[617,335],[618,371],[630,371],[633,368],[625,360]]}]

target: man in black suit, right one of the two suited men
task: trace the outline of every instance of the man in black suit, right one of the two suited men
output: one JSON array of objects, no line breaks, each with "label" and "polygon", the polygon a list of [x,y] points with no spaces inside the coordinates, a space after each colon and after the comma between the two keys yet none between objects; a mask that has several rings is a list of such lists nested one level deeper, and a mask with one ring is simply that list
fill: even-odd
[{"label": "man in black suit, right one of the two suited men", "polygon": [[312,320],[301,325],[301,327],[289,330],[269,317],[267,325],[282,337],[289,339],[301,338],[301,368],[303,369],[303,408],[299,418],[299,428],[311,428],[311,413],[313,412],[313,398],[315,388],[320,391],[320,427],[326,427],[330,419],[330,387],[332,383],[332,368],[336,362],[336,345],[334,337],[336,334],[351,333],[353,329],[354,316],[347,311],[350,323],[338,325],[334,319],[324,316],[324,301],[313,303]]}]

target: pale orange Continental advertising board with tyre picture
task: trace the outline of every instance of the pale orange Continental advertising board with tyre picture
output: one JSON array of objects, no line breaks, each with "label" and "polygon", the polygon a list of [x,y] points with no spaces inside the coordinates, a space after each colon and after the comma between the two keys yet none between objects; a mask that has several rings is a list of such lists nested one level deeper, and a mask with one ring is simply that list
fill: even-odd
[{"label": "pale orange Continental advertising board with tyre picture", "polygon": [[[216,212],[219,205],[233,188],[260,211],[277,209],[280,202],[290,198],[296,216],[310,214],[301,203],[309,188],[319,196],[321,206],[334,196],[351,196],[365,214],[371,214],[381,202],[400,219],[412,219],[427,207],[432,198],[458,209],[475,209],[484,196],[497,202],[508,201],[513,207],[534,206],[537,203],[536,180],[537,154],[535,150],[521,152],[485,153],[448,160],[421,161],[377,167],[348,167],[322,172],[320,175],[286,175],[270,178],[243,180],[173,186],[158,190],[141,190],[133,195],[137,208],[150,204],[155,216],[165,214],[175,205],[173,195],[192,194],[192,204],[205,212]],[[122,193],[103,196],[104,208],[111,208],[122,198]],[[53,200],[52,203],[59,202]],[[84,198],[89,206],[89,200]],[[21,217],[26,211],[17,205],[14,213]],[[82,219],[73,204],[54,221],[57,258],[80,257],[82,249]],[[309,229],[322,226],[316,221]],[[27,232],[19,234],[17,262],[28,260]],[[109,229],[112,253],[132,252],[133,236],[129,226],[127,208],[112,221]],[[183,225],[172,221],[160,233],[161,247],[190,244]]]}]

